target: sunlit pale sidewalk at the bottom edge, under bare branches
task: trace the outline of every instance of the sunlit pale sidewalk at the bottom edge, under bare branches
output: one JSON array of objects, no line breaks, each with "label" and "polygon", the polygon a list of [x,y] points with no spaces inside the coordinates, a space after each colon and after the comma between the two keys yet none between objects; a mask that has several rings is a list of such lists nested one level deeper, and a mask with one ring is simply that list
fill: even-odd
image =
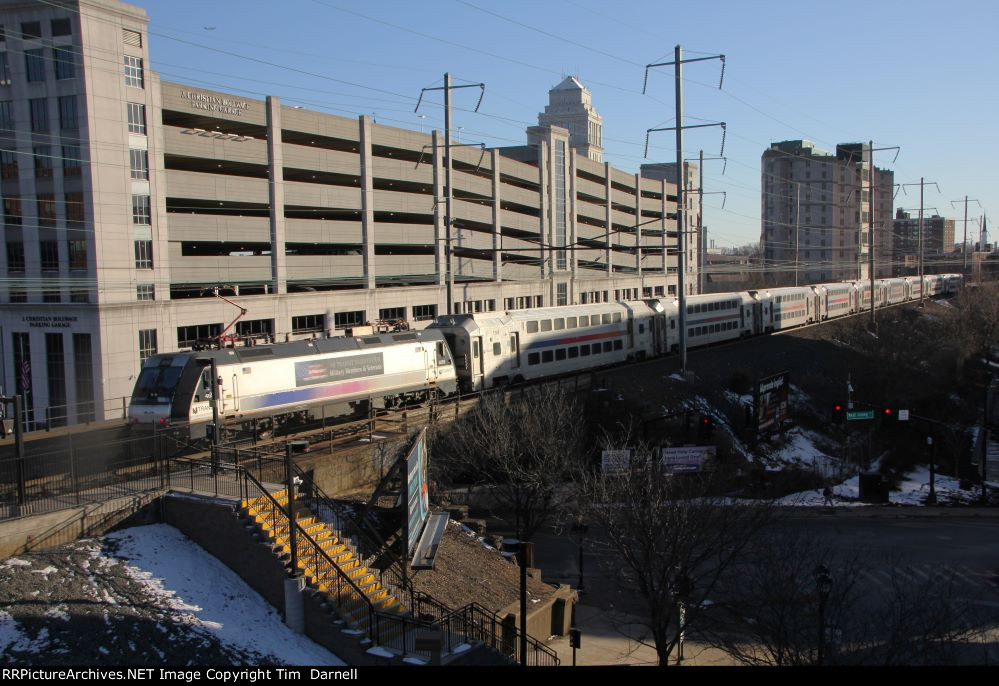
[{"label": "sunlit pale sidewalk at the bottom edge, under bare branches", "polygon": [[[576,664],[586,665],[633,665],[656,666],[659,662],[655,649],[637,643],[628,636],[641,636],[647,630],[639,624],[625,624],[624,618],[616,617],[613,611],[587,605],[587,598],[576,606],[576,628],[582,632],[582,647],[576,651]],[[619,621],[620,619],[620,621]],[[649,642],[651,643],[651,637]],[[569,637],[563,636],[548,643],[548,647],[558,653],[563,667],[572,666],[572,648]],[[696,642],[687,641],[683,646],[684,666],[730,666],[737,664],[725,653],[708,648]],[[676,651],[670,659],[670,666],[676,664]]]}]

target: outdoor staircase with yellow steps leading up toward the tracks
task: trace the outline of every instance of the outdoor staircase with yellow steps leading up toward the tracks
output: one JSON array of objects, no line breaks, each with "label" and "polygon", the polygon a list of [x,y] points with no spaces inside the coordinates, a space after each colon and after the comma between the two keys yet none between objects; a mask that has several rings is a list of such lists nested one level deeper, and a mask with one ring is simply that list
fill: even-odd
[{"label": "outdoor staircase with yellow steps leading up toward the tracks", "polygon": [[[259,527],[274,546],[275,553],[285,558],[286,566],[290,567],[287,506],[288,492],[284,489],[270,493],[270,497],[262,495],[241,502],[244,516]],[[308,586],[322,593],[328,605],[352,630],[367,634],[376,645],[394,652],[406,652],[401,642],[409,610],[381,584],[377,571],[364,564],[339,531],[321,521],[299,501],[295,505],[295,520],[300,527],[296,541],[298,572]],[[302,531],[307,536],[301,535]],[[371,610],[378,613],[375,626],[372,626]],[[393,618],[398,620],[392,621]],[[412,627],[408,628],[412,630]]]}]

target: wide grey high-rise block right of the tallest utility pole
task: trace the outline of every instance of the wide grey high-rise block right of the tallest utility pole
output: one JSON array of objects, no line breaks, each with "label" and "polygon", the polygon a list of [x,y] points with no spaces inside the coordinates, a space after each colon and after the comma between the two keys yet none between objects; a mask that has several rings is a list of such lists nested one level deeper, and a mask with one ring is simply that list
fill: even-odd
[{"label": "wide grey high-rise block right of the tallest utility pole", "polygon": [[894,172],[873,167],[870,146],[831,153],[811,141],[774,143],[763,153],[761,217],[765,266],[778,283],[868,279],[871,200],[875,276],[891,275]]}]

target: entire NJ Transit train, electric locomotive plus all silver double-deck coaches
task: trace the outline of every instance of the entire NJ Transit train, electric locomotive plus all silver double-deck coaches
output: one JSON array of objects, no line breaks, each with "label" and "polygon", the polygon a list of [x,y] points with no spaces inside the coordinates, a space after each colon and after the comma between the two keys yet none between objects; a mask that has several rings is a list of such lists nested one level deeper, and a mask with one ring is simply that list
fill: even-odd
[{"label": "entire NJ Transit train, electric locomotive plus all silver double-deck coaches", "polygon": [[[687,345],[763,335],[921,295],[950,294],[959,274],[692,295]],[[675,297],[443,315],[420,331],[153,355],[129,407],[139,426],[223,426],[265,435],[282,425],[658,357],[679,348]],[[215,369],[213,379],[212,368]],[[221,428],[220,428],[221,430]]]}]

